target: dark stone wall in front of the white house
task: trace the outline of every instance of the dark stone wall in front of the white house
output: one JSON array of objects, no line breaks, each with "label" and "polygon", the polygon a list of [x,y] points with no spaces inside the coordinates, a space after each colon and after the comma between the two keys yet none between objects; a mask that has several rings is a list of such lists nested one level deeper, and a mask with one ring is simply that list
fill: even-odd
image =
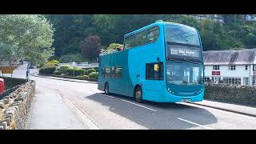
[{"label": "dark stone wall in front of the white house", "polygon": [[256,106],[256,87],[206,84],[205,99]]}]

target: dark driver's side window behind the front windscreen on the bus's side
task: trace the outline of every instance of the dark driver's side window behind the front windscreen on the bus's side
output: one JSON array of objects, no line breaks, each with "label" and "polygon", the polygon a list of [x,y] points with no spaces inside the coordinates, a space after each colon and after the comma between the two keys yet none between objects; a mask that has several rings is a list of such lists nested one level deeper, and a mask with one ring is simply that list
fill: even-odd
[{"label": "dark driver's side window behind the front windscreen on the bus's side", "polygon": [[151,80],[163,79],[162,62],[146,64],[146,79],[151,79]]}]

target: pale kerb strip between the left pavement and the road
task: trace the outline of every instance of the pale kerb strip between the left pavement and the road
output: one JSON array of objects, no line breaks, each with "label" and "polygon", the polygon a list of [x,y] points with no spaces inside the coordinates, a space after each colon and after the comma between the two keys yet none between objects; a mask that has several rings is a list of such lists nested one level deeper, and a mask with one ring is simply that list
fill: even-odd
[{"label": "pale kerb strip between the left pavement and the road", "polygon": [[90,115],[83,112],[75,103],[70,102],[69,98],[66,98],[64,94],[58,90],[58,94],[61,96],[64,102],[70,107],[71,110],[73,110],[80,121],[85,125],[88,126],[90,130],[100,130],[99,126],[97,126],[97,123],[94,122],[93,118],[90,118]]}]

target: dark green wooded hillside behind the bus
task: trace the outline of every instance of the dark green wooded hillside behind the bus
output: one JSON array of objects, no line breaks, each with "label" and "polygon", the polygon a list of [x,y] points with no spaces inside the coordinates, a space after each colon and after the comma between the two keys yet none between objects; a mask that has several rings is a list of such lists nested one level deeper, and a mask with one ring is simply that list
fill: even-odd
[{"label": "dark green wooded hillside behind the bus", "polygon": [[[98,48],[123,43],[123,35],[149,25],[158,19],[195,27],[202,38],[203,50],[251,49],[256,47],[256,22],[242,20],[242,14],[222,14],[225,23],[206,18],[198,21],[186,14],[53,14],[46,15],[54,23],[55,54],[58,57],[82,54],[90,60],[98,56]],[[94,46],[85,46],[85,38],[98,35]],[[94,38],[97,39],[97,38]],[[99,46],[101,44],[102,46]]]}]

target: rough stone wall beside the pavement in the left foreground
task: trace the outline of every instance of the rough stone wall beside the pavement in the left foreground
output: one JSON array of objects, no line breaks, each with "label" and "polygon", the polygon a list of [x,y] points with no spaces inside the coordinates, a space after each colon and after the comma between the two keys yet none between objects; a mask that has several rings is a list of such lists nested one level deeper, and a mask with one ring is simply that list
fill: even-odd
[{"label": "rough stone wall beside the pavement in the left foreground", "polygon": [[17,90],[0,100],[0,130],[22,130],[35,93],[35,82],[22,84]]}]

